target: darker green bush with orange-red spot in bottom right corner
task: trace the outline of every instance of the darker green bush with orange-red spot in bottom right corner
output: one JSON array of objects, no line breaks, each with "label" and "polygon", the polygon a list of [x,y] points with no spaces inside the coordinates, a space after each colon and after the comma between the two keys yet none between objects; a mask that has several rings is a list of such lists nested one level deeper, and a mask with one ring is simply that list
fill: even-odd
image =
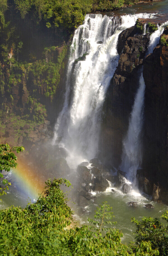
[{"label": "darker green bush with orange-red spot in bottom right corner", "polygon": [[[168,211],[164,212],[161,216],[161,219],[164,219],[168,222]],[[132,218],[132,222],[136,224],[136,244],[133,249],[140,244],[145,242],[150,242],[150,251],[157,250],[159,255],[168,255],[168,225],[163,224],[160,218],[151,218],[143,217],[141,221],[137,221],[135,218]],[[133,247],[132,247],[133,248]],[[153,251],[153,255],[157,252]]]}]

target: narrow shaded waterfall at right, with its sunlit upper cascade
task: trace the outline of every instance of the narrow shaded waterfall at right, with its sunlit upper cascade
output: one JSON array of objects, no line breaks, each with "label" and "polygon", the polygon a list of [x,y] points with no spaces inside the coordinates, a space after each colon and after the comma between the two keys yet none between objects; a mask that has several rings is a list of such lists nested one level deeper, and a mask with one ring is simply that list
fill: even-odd
[{"label": "narrow shaded waterfall at right, with its sunlit upper cascade", "polygon": [[[150,36],[150,43],[147,54],[159,43],[160,35],[163,33],[164,26],[158,26],[158,30]],[[145,27],[146,29],[146,27]],[[142,127],[143,127],[143,107],[144,107],[145,83],[143,71],[139,79],[139,88],[135,96],[134,105],[130,115],[128,132],[123,140],[123,155],[121,170],[127,173],[129,181],[136,182],[137,169],[141,168],[142,162]]]}]

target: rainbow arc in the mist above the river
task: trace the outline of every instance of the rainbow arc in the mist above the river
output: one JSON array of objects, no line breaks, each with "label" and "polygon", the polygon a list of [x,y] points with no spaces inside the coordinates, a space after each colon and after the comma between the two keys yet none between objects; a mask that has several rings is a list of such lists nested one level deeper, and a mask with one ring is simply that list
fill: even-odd
[{"label": "rainbow arc in the mist above the river", "polygon": [[44,189],[45,181],[29,165],[20,161],[17,163],[17,168],[12,169],[12,185],[14,184],[18,192],[23,193],[31,200],[37,199],[39,193]]}]

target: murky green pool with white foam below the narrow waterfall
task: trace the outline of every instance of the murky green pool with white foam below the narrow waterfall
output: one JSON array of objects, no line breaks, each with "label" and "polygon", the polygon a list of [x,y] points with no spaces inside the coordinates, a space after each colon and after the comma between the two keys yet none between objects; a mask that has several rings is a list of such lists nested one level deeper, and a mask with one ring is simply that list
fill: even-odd
[{"label": "murky green pool with white foam below the narrow waterfall", "polygon": [[[147,195],[140,195],[139,192],[132,192],[129,194],[123,194],[120,190],[113,188],[116,192],[111,192],[111,188],[108,188],[110,192],[96,193],[96,199],[94,202],[90,201],[89,206],[85,207],[86,213],[81,215],[81,221],[87,223],[87,218],[94,219],[94,212],[97,206],[101,205],[104,201],[107,201],[110,206],[113,207],[114,220],[117,224],[115,228],[119,229],[123,233],[122,242],[129,243],[134,241],[135,225],[131,222],[131,217],[135,217],[140,220],[145,217],[160,217],[164,210],[168,210],[168,206],[165,204],[159,204],[151,201],[151,198]],[[106,190],[106,191],[107,191]],[[128,206],[129,201],[135,201],[138,203],[137,207]],[[145,204],[152,204],[154,209],[146,209]],[[76,210],[76,209],[75,209]],[[78,208],[78,212],[80,209]],[[80,213],[79,213],[80,215]],[[77,218],[78,220],[78,218]]]}]

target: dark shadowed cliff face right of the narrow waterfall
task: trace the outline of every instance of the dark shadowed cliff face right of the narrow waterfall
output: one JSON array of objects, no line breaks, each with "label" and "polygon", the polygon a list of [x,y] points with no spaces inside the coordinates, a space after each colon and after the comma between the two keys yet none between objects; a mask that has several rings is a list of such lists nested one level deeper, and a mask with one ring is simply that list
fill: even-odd
[{"label": "dark shadowed cliff face right of the narrow waterfall", "polygon": [[[160,36],[166,38],[168,29]],[[166,43],[165,43],[166,44]],[[144,171],[154,182],[168,183],[168,46],[159,45],[144,60]]]}]

